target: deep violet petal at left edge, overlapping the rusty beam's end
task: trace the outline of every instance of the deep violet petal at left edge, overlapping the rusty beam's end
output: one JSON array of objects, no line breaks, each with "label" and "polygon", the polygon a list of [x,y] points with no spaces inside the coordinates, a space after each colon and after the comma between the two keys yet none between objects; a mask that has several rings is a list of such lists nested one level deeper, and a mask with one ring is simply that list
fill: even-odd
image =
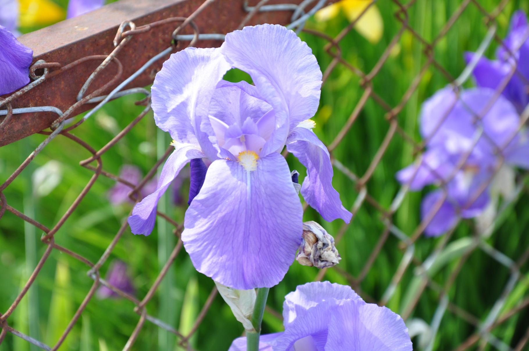
[{"label": "deep violet petal at left edge, overlapping the rusty beam's end", "polygon": [[0,95],[9,94],[30,82],[33,50],[22,45],[14,35],[0,25]]}]

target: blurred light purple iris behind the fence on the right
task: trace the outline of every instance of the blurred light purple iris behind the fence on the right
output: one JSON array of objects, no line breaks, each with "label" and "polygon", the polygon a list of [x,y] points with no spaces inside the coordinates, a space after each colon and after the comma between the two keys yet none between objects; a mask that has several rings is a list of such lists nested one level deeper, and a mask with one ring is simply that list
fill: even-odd
[{"label": "blurred light purple iris behind the fence on the right", "polygon": [[443,234],[459,216],[476,217],[485,209],[488,184],[500,157],[509,165],[529,169],[529,135],[519,131],[515,107],[500,96],[485,116],[478,118],[492,99],[494,90],[488,88],[462,91],[458,98],[451,87],[446,87],[423,104],[420,118],[426,152],[421,162],[400,170],[397,179],[409,184],[411,190],[445,184],[445,191],[433,191],[422,202],[424,219],[442,201],[425,228],[428,236]]}]

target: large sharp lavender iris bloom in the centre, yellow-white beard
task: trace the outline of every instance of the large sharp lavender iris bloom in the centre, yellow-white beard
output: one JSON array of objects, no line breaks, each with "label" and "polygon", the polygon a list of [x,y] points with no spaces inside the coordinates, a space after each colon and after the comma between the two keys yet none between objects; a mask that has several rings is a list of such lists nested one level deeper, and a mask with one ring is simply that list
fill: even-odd
[{"label": "large sharp lavender iris bloom in the centre, yellow-white beard", "polygon": [[[231,68],[248,72],[255,85],[223,80]],[[220,48],[172,54],[154,80],[152,107],[175,151],[157,190],[129,217],[132,233],[151,233],[171,180],[190,160],[206,158],[212,163],[205,173],[198,161],[191,164],[199,191],[181,236],[195,268],[234,289],[281,281],[303,233],[303,208],[279,153],[285,144],[307,167],[301,193],[308,204],[328,221],[352,216],[332,187],[329,152],[308,120],[321,78],[311,49],[280,25],[244,27]]]}]

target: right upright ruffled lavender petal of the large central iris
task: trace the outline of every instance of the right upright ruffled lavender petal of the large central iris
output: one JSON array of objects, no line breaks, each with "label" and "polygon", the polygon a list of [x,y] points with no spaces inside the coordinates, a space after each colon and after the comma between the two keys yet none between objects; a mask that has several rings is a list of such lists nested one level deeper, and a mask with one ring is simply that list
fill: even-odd
[{"label": "right upright ruffled lavender petal of the large central iris", "polygon": [[296,33],[281,25],[244,27],[226,34],[221,46],[233,67],[250,74],[276,115],[276,131],[261,151],[280,149],[288,132],[314,116],[320,101],[322,72],[315,56]]}]

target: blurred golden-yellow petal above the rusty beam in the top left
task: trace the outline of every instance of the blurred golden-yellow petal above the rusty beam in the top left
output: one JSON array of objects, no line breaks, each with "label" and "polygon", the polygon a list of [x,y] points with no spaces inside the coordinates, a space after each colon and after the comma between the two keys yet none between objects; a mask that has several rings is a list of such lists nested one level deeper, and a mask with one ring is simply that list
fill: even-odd
[{"label": "blurred golden-yellow petal above the rusty beam in the top left", "polygon": [[19,0],[20,26],[32,27],[62,21],[66,13],[51,0]]}]

